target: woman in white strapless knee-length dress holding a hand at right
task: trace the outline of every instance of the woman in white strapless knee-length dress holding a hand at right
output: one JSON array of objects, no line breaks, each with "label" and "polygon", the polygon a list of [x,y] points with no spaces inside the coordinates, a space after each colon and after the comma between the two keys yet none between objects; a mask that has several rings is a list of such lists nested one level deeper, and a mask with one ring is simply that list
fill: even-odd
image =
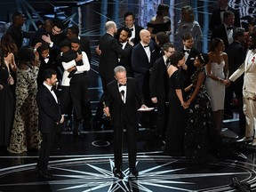
[{"label": "woman in white strapless knee-length dress holding a hand at right", "polygon": [[228,81],[228,55],[220,38],[210,44],[209,62],[206,64],[206,90],[211,98],[213,122],[218,132],[222,129],[224,115],[225,86]]}]

